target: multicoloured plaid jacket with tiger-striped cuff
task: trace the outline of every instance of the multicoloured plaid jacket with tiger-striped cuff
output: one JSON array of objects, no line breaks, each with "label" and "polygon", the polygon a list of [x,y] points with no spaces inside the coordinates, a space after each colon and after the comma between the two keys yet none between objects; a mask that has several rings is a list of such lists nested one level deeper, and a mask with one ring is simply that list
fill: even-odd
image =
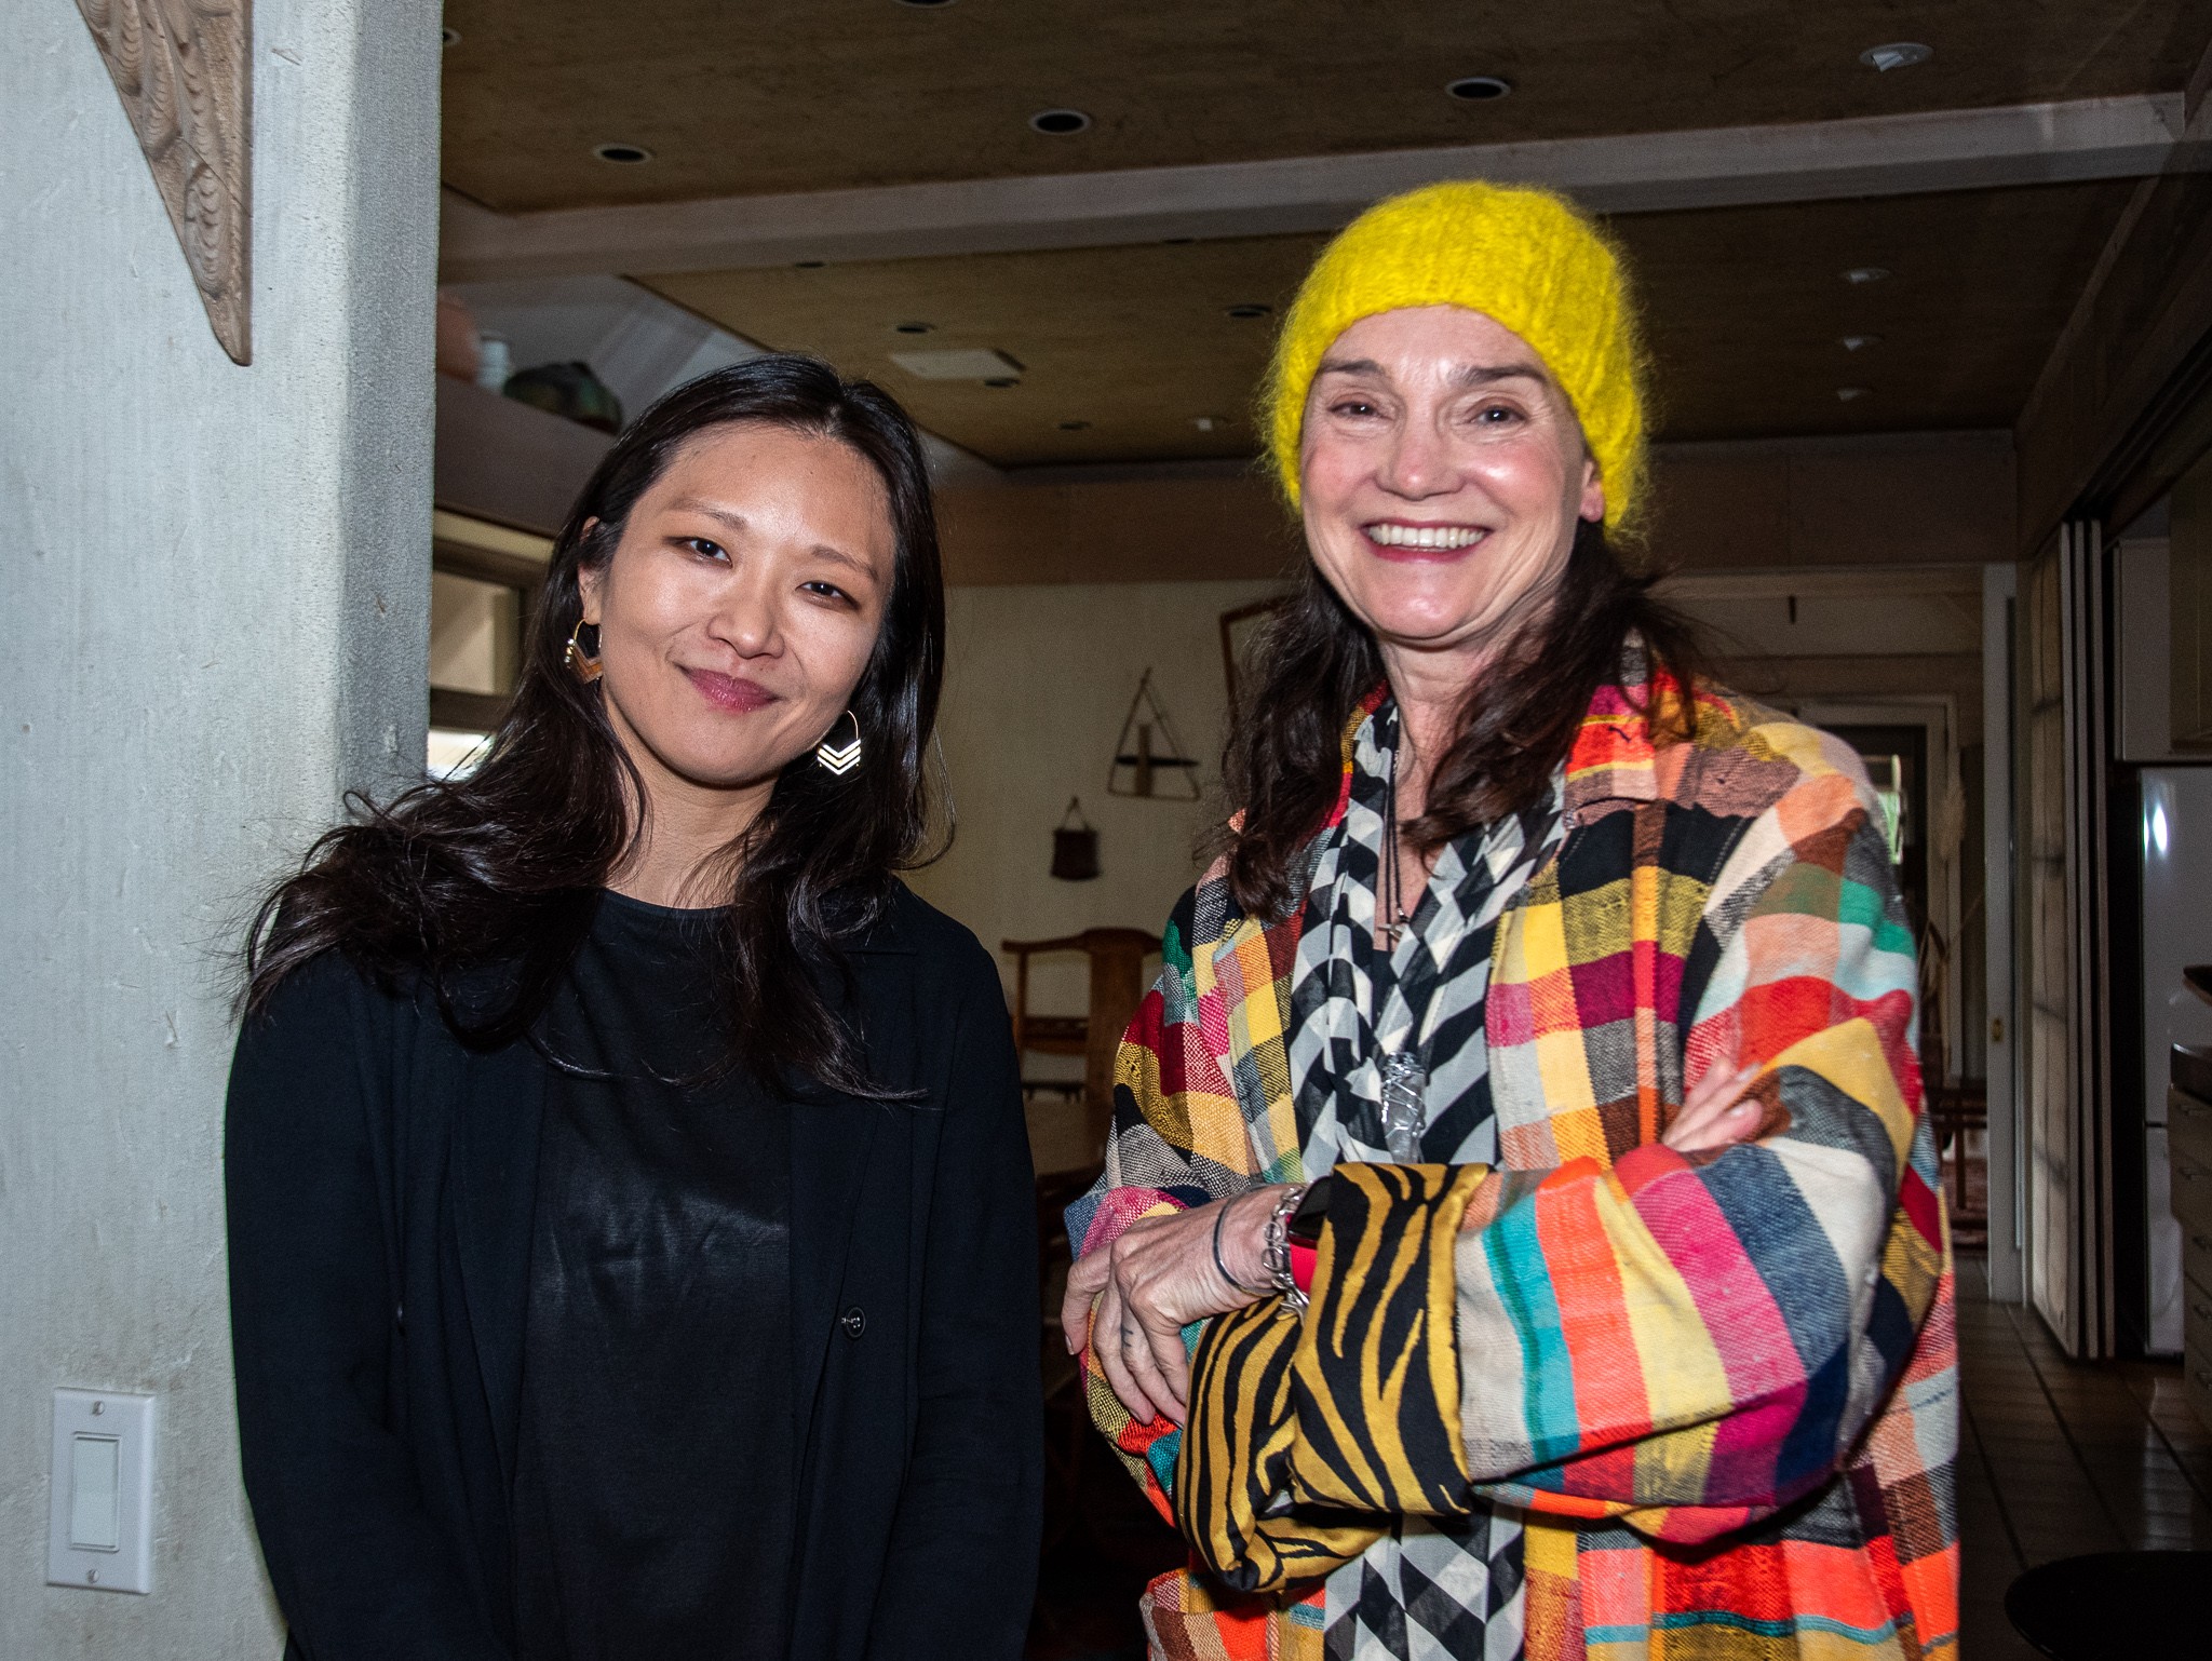
[{"label": "multicoloured plaid jacket with tiger-striped cuff", "polygon": [[[1526,1528],[1531,1661],[1955,1661],[1951,1258],[1878,809],[1772,710],[1701,690],[1655,741],[1644,706],[1595,699],[1568,838],[1498,929],[1498,1168],[1340,1166],[1307,1314],[1188,1334],[1188,1429],[1133,1422],[1084,1351],[1192,1544],[1146,1595],[1157,1657],[1318,1661],[1321,1577],[1378,1517],[1489,1504]],[[1079,1254],[1301,1177],[1296,936],[1219,865],[1177,905]],[[1745,1062],[1756,1139],[1661,1146]]]}]

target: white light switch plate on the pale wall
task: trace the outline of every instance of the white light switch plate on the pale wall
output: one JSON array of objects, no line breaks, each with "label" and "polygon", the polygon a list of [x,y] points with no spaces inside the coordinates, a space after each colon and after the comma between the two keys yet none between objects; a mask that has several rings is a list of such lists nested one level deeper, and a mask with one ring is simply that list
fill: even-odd
[{"label": "white light switch plate on the pale wall", "polygon": [[155,1398],[53,1391],[46,1584],[153,1590]]}]

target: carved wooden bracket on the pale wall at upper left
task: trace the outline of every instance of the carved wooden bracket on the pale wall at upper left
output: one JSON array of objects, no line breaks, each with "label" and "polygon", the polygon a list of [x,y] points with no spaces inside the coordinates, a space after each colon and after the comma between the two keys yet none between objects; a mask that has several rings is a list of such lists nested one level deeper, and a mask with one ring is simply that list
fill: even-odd
[{"label": "carved wooden bracket on the pale wall at upper left", "polygon": [[208,325],[252,361],[252,0],[77,0]]}]

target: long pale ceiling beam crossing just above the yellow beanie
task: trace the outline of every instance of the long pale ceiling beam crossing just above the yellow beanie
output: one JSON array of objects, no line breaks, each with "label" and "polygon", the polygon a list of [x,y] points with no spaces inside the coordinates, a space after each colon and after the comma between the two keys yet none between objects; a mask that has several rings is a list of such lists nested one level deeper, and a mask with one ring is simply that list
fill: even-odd
[{"label": "long pale ceiling beam crossing just above the yellow beanie", "polygon": [[703,272],[1323,232],[1378,197],[1469,177],[1555,186],[1608,215],[2126,179],[2168,170],[2181,130],[2183,95],[2143,93],[531,215],[498,215],[447,190],[440,279]]}]

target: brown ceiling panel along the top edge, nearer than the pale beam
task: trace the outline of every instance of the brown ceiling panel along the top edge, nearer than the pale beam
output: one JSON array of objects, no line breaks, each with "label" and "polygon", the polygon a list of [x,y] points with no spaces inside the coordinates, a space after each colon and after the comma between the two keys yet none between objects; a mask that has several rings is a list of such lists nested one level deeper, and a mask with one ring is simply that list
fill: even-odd
[{"label": "brown ceiling panel along the top edge, nearer than the pale beam", "polygon": [[[502,212],[2177,91],[2203,0],[449,0],[445,177]],[[1878,75],[1867,46],[1936,60]],[[1511,97],[1444,95],[1504,75]],[[1073,106],[1075,137],[1029,128]],[[608,142],[644,166],[593,157]]]}]

